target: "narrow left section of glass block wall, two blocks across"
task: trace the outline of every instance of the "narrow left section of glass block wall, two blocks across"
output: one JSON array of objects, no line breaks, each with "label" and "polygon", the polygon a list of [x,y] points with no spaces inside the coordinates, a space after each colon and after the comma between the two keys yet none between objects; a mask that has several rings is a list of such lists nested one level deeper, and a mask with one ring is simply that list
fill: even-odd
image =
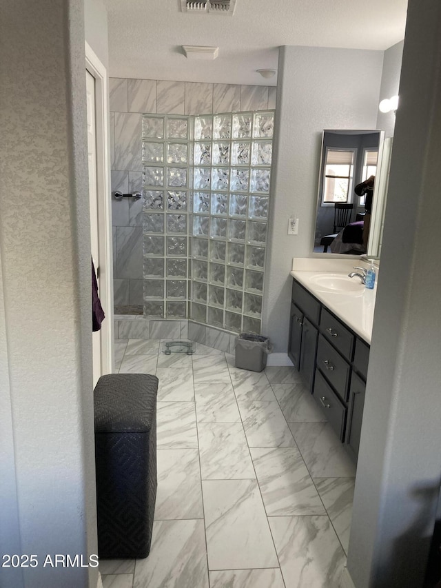
[{"label": "narrow left section of glass block wall, two blocks across", "polygon": [[188,116],[143,115],[144,314],[187,318]]}]

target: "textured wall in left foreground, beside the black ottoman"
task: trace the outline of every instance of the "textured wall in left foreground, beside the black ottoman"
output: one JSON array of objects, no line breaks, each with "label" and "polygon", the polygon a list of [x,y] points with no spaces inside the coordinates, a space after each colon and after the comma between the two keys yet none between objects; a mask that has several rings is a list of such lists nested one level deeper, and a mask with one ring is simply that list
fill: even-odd
[{"label": "textured wall in left foreground, beside the black ottoman", "polygon": [[17,0],[0,19],[0,551],[40,562],[0,569],[14,588],[98,577],[42,565],[97,549],[84,16]]}]

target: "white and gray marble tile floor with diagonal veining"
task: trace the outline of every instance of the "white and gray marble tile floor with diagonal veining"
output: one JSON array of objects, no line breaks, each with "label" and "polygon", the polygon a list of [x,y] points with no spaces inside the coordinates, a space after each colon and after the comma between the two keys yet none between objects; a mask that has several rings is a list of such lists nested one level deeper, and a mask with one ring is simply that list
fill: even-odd
[{"label": "white and gray marble tile floor with diagonal veining", "polygon": [[158,492],[150,555],[103,560],[103,588],[338,588],[355,467],[294,367],[162,343],[115,343],[159,378]]}]

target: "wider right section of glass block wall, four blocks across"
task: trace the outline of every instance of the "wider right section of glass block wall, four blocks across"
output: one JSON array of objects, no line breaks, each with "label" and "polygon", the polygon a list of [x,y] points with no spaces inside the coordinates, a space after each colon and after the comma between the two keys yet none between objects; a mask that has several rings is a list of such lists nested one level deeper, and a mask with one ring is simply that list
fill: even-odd
[{"label": "wider right section of glass block wall, four blocks across", "polygon": [[260,333],[274,112],[194,119],[189,318]]}]

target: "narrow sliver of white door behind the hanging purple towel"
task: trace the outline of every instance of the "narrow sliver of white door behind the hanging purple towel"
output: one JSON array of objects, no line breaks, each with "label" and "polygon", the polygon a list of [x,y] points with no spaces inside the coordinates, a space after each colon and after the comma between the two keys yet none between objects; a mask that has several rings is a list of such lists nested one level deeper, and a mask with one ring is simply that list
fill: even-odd
[{"label": "narrow sliver of white door behind the hanging purple towel", "polygon": [[[95,79],[86,70],[86,96],[88,104],[88,156],[89,156],[89,203],[90,203],[90,243],[92,259],[97,274],[100,291],[99,258],[99,216],[98,190],[96,185],[96,116],[95,116]],[[102,374],[101,369],[101,331],[92,333],[93,382],[94,387]]]}]

